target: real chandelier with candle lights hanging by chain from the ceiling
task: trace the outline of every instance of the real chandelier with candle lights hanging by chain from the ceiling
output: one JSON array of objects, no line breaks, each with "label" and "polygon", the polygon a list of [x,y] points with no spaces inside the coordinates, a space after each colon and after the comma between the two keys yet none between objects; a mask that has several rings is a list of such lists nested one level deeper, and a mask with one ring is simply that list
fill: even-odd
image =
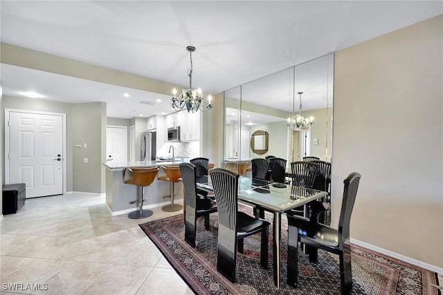
[{"label": "real chandelier with candle lights hanging by chain from the ceiling", "polygon": [[191,67],[188,68],[188,77],[189,77],[189,88],[183,89],[181,91],[181,94],[179,97],[177,97],[177,90],[174,88],[172,90],[172,93],[174,94],[174,97],[172,97],[172,108],[174,108],[175,111],[181,111],[186,106],[186,109],[188,110],[188,113],[192,111],[192,113],[195,113],[196,111],[209,111],[211,108],[213,108],[213,105],[210,104],[210,95],[208,96],[208,104],[206,105],[206,110],[203,106],[203,95],[201,95],[201,89],[198,90],[192,89],[192,53],[195,51],[194,46],[188,46],[186,47],[186,50],[189,51],[189,57],[190,57],[190,64]]}]

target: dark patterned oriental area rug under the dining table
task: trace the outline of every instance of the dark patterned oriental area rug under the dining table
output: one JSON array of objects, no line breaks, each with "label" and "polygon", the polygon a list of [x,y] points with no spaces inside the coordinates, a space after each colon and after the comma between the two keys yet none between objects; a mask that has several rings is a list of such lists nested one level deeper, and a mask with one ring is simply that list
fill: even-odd
[{"label": "dark patterned oriental area rug under the dining table", "polygon": [[[247,207],[242,210],[249,211]],[[248,212],[252,213],[252,212]],[[272,216],[266,215],[270,222]],[[282,220],[280,289],[273,283],[272,226],[269,227],[269,267],[260,267],[260,236],[244,240],[244,254],[237,254],[237,279],[231,283],[217,272],[217,214],[211,214],[210,230],[197,222],[197,247],[184,240],[183,214],[140,225],[168,262],[195,294],[340,294],[338,256],[318,251],[318,262],[309,263],[299,251],[298,287],[287,285],[287,222]],[[441,295],[435,272],[352,245],[351,294]],[[440,278],[441,281],[441,278]]]}]

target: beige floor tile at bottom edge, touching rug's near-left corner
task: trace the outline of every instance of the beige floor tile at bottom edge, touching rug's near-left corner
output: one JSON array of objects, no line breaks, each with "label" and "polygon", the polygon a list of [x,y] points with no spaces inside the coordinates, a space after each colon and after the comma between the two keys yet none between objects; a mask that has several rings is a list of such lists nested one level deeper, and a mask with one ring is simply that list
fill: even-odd
[{"label": "beige floor tile at bottom edge, touching rug's near-left corner", "polygon": [[181,280],[174,269],[154,268],[136,294],[186,295],[189,291],[188,285]]}]

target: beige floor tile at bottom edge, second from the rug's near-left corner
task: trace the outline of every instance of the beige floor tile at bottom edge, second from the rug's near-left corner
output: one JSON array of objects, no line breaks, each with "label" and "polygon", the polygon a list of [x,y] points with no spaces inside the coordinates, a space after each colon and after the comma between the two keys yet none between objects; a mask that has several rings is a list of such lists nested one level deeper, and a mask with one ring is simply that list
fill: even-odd
[{"label": "beige floor tile at bottom edge, second from the rug's near-left corner", "polygon": [[84,294],[135,294],[147,276],[151,267],[114,265],[102,274]]}]

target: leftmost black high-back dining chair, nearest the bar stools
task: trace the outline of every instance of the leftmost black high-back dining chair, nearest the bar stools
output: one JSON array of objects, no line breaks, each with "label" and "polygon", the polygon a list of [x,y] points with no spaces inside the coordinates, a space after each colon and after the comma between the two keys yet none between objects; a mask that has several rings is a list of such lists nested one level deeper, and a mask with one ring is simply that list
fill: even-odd
[{"label": "leftmost black high-back dining chair, nearest the bar stools", "polygon": [[192,247],[196,246],[197,218],[204,216],[205,228],[209,229],[209,214],[217,212],[217,204],[210,198],[197,195],[197,166],[192,163],[180,163],[181,179],[185,195],[185,240]]}]

